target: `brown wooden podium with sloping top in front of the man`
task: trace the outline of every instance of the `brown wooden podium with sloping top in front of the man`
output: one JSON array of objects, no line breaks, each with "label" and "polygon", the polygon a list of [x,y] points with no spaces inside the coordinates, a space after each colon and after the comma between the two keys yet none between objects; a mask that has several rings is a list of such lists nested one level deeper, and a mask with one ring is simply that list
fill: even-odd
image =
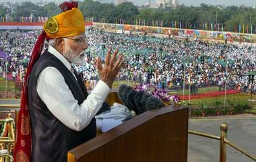
[{"label": "brown wooden podium with sloping top in front of the man", "polygon": [[145,112],[75,147],[68,162],[187,162],[188,114],[173,106]]}]

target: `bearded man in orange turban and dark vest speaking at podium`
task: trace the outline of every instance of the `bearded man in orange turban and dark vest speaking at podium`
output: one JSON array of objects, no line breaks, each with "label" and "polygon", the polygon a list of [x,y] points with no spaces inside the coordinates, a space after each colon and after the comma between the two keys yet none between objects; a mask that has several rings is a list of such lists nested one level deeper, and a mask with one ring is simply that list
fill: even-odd
[{"label": "bearded man in orange turban and dark vest speaking at podium", "polygon": [[[88,48],[84,17],[75,2],[65,2],[61,8],[63,13],[44,24],[44,32],[30,58],[18,121],[15,161],[65,162],[67,151],[94,138],[94,116],[123,65],[123,56],[117,59],[118,49],[113,56],[108,50],[104,66],[97,58],[100,81],[88,95],[82,78],[71,66],[71,63],[84,63]],[[49,39],[49,48],[38,58],[44,37]]]}]

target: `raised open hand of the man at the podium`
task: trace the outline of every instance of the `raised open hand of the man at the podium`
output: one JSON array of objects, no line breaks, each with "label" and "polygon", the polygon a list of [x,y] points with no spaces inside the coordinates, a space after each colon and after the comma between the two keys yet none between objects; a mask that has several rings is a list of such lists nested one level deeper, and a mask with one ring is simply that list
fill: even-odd
[{"label": "raised open hand of the man at the podium", "polygon": [[119,48],[115,50],[113,56],[111,56],[111,51],[112,48],[109,48],[108,54],[106,54],[104,66],[102,66],[100,58],[96,59],[96,66],[100,75],[100,80],[104,81],[104,83],[106,83],[110,88],[112,87],[115,77],[117,77],[117,74],[123,67],[123,55],[119,54],[119,58],[117,59]]}]

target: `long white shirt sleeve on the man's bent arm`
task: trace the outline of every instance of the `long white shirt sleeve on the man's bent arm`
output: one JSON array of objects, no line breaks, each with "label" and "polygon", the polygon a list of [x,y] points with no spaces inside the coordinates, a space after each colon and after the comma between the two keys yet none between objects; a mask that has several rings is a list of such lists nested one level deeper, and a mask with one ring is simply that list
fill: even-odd
[{"label": "long white shirt sleeve on the man's bent arm", "polygon": [[38,76],[36,91],[56,118],[67,127],[80,131],[100,110],[110,88],[99,81],[87,99],[78,105],[61,73],[54,67],[47,67]]}]

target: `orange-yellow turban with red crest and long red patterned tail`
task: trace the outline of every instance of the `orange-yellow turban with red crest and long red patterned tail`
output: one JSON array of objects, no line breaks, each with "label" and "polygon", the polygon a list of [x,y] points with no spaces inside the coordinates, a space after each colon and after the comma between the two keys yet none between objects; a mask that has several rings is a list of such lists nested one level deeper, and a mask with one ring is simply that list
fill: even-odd
[{"label": "orange-yellow turban with red crest and long red patterned tail", "polygon": [[20,104],[20,113],[18,117],[18,125],[15,138],[14,161],[31,161],[32,150],[32,133],[30,124],[30,112],[28,108],[28,79],[32,71],[33,65],[40,57],[42,47],[45,39],[61,38],[77,36],[85,32],[84,16],[79,9],[77,9],[77,2],[70,1],[60,5],[63,13],[51,17],[44,23],[43,31],[38,37],[30,62],[28,70],[25,75],[22,87],[22,99]]}]

